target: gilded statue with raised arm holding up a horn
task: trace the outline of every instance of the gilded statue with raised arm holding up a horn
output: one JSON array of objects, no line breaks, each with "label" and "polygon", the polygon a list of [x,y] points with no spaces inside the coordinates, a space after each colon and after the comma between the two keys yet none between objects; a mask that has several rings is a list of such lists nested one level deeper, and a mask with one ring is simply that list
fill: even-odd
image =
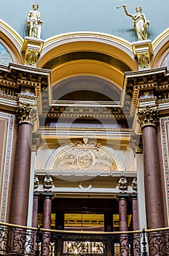
[{"label": "gilded statue with raised arm holding up a horn", "polygon": [[138,37],[138,40],[146,40],[147,33],[146,29],[149,27],[149,20],[146,20],[146,16],[142,13],[141,7],[135,7],[136,14],[130,14],[127,12],[126,4],[123,4],[122,7],[125,10],[125,14],[132,18],[132,22],[134,23],[135,34]]}]

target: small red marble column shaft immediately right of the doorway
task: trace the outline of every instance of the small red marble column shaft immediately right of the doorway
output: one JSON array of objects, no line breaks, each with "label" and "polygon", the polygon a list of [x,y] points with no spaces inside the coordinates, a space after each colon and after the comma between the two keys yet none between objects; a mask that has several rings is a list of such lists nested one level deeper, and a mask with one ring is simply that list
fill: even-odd
[{"label": "small red marble column shaft immediately right of the doorway", "polygon": [[127,200],[119,197],[119,231],[127,231]]}]

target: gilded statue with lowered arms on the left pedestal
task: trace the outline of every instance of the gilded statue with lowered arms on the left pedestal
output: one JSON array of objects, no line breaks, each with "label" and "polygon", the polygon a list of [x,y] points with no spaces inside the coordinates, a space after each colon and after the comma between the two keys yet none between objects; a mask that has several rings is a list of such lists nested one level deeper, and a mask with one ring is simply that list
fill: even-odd
[{"label": "gilded statue with lowered arms on the left pedestal", "polygon": [[38,9],[39,4],[33,4],[33,10],[28,12],[28,36],[33,38],[40,38],[41,35],[42,19]]}]

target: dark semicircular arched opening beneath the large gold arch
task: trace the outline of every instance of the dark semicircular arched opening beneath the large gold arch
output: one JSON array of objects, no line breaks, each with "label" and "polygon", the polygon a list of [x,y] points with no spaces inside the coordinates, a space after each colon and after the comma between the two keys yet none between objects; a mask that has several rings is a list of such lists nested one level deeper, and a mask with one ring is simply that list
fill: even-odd
[{"label": "dark semicircular arched opening beneath the large gold arch", "polygon": [[52,88],[53,101],[119,102],[121,91],[114,83],[92,75],[79,75]]}]

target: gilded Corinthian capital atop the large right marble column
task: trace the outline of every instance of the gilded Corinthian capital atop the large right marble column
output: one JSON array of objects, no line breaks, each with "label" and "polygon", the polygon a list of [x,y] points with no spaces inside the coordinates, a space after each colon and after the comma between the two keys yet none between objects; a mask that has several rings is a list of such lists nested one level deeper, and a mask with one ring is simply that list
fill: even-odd
[{"label": "gilded Corinthian capital atop the large right marble column", "polygon": [[157,127],[159,121],[159,110],[157,109],[157,105],[152,107],[146,106],[146,108],[139,108],[138,118],[141,128],[147,125],[153,125]]}]

